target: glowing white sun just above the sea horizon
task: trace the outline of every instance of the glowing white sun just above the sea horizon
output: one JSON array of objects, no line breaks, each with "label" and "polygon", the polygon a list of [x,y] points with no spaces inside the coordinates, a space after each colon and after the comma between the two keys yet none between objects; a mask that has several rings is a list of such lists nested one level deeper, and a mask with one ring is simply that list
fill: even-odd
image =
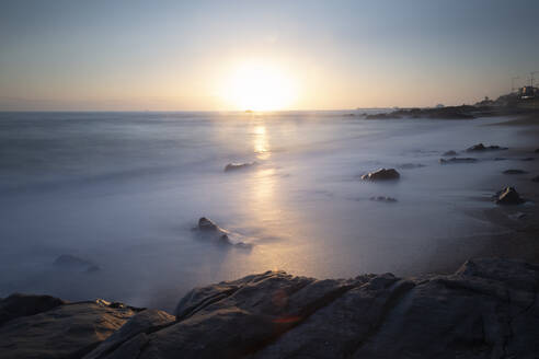
[{"label": "glowing white sun just above the sea horizon", "polygon": [[226,102],[236,109],[277,111],[291,105],[296,85],[277,66],[250,61],[231,71],[222,93]]}]

